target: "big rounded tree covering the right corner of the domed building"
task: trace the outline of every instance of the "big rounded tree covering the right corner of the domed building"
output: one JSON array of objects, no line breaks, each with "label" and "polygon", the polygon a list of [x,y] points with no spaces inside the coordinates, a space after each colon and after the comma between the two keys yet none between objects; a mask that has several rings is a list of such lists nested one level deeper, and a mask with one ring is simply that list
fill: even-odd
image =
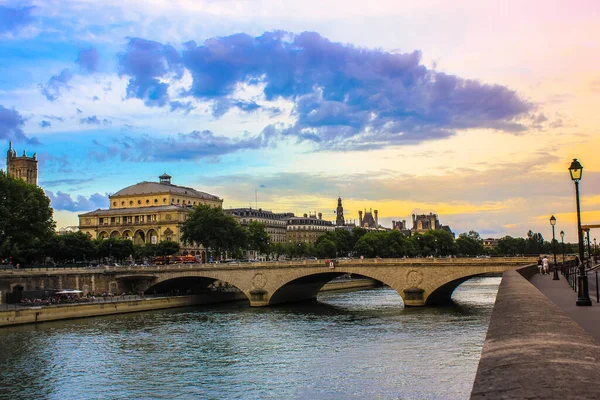
[{"label": "big rounded tree covering the right corner of the domed building", "polygon": [[246,244],[246,230],[221,207],[199,205],[181,227],[181,240],[210,248],[218,255],[235,253]]}]

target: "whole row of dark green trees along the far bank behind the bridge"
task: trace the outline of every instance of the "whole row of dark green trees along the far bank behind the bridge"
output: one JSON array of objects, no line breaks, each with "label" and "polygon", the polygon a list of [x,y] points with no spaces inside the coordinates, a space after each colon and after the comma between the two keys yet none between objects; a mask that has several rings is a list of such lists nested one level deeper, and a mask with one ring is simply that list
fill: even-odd
[{"label": "whole row of dark green trees along the far bank behind the bridge", "polygon": [[[95,239],[87,235],[55,233],[50,200],[43,190],[14,179],[0,171],[0,260],[12,264],[87,262],[111,260],[123,262],[152,259],[180,252],[175,242],[135,245],[129,239]],[[497,246],[484,247],[479,233],[461,233],[457,238],[445,230],[430,230],[411,236],[400,231],[369,231],[355,227],[336,229],[319,237],[316,243],[271,243],[264,224],[253,221],[242,226],[221,208],[201,205],[182,225],[183,243],[202,245],[214,260],[245,258],[247,250],[257,251],[268,259],[296,257],[448,257],[514,256],[557,254],[562,244],[544,240],[541,233],[527,232],[526,237],[505,236]],[[576,253],[577,244],[565,243],[565,253]]]}]

